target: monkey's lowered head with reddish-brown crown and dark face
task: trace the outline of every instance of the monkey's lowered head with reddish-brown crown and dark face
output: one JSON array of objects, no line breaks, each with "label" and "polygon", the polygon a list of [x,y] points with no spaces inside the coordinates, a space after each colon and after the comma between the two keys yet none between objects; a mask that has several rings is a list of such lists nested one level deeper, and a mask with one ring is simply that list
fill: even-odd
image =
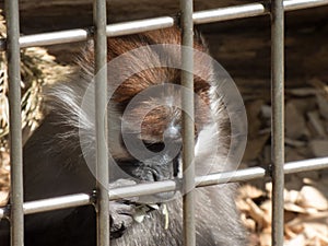
[{"label": "monkey's lowered head with reddish-brown crown and dark face", "polygon": [[[183,151],[181,91],[169,85],[181,87],[183,68],[177,66],[180,65],[180,32],[178,28],[172,28],[169,32],[156,33],[156,35],[145,33],[108,38],[107,94],[110,96],[107,112],[110,183],[121,178],[134,179],[138,183],[160,181],[179,176]],[[153,47],[156,44],[162,46]],[[141,51],[139,47],[143,47]],[[81,91],[79,93],[81,97],[75,96],[77,102],[72,103],[69,93],[62,99],[65,90],[58,90],[56,97],[61,97],[67,112],[73,109],[73,114],[65,113],[63,116],[78,116],[78,120],[75,119],[73,124],[79,128],[79,133],[82,132],[79,140],[85,163],[95,174],[94,106],[90,106],[94,102],[94,93],[90,95],[86,93],[94,84],[94,71],[85,66],[93,63],[93,47],[89,48],[90,50],[85,50],[80,58],[80,83],[68,85],[69,92]],[[195,42],[195,48],[206,50],[201,40]],[[195,97],[201,98],[201,102],[195,101],[197,136],[211,118],[209,113],[211,104],[209,82],[213,79],[211,61],[203,56],[195,56],[195,73],[197,74],[194,77],[195,90],[191,93]],[[155,95],[144,93],[152,87],[157,89]],[[72,120],[69,118],[67,121],[71,124]]]}]

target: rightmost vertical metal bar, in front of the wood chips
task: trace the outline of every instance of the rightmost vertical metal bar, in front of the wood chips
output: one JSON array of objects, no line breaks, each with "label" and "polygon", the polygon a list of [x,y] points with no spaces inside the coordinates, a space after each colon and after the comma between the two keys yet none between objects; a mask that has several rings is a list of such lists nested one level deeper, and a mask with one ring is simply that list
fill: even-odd
[{"label": "rightmost vertical metal bar, in front of the wood chips", "polygon": [[272,98],[272,245],[283,245],[284,188],[284,12],[283,1],[271,1]]}]

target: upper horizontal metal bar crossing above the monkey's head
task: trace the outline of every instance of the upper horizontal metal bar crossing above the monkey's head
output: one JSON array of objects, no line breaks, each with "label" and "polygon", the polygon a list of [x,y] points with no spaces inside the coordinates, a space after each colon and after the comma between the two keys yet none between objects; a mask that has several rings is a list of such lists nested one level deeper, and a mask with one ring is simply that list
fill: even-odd
[{"label": "upper horizontal metal bar crossing above the monkey's head", "polygon": [[[315,8],[328,4],[328,0],[288,0],[283,2],[285,11]],[[253,17],[268,14],[269,10],[263,3],[250,3],[236,7],[226,7],[214,10],[199,11],[192,14],[195,24],[229,21],[242,17]],[[107,36],[120,36],[141,33],[152,30],[173,26],[175,19],[162,16],[140,21],[110,24],[106,27]],[[20,38],[21,48],[32,46],[48,46],[86,40],[92,36],[92,28],[77,28],[60,32],[26,35]],[[5,38],[0,39],[0,51],[5,50]]]}]

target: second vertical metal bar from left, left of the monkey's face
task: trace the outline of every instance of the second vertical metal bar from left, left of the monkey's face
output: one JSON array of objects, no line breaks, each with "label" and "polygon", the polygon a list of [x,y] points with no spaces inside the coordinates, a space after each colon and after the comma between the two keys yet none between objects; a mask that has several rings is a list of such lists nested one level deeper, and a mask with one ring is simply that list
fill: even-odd
[{"label": "second vertical metal bar from left, left of the monkey's face", "polygon": [[106,0],[94,0],[95,117],[97,164],[97,245],[109,245],[109,197],[107,162],[107,37]]}]

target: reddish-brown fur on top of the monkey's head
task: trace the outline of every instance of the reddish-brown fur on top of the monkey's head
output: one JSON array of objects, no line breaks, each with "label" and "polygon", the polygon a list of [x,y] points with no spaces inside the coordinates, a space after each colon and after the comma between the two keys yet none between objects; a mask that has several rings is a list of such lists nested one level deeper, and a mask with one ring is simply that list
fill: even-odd
[{"label": "reddish-brown fur on top of the monkey's head", "polygon": [[[203,39],[199,35],[195,37],[194,43],[195,50],[207,52],[207,46],[203,44]],[[125,112],[128,103],[144,90],[164,83],[180,84],[180,69],[172,68],[171,66],[180,66],[181,62],[181,49],[179,46],[180,31],[178,27],[175,26],[137,35],[113,37],[108,38],[107,45],[108,86],[116,89],[113,97],[110,98],[112,106],[109,106],[109,112],[115,115],[115,117],[121,117],[121,114]],[[163,45],[163,47],[156,45]],[[165,45],[175,46],[173,48],[166,48]],[[140,47],[142,50],[140,50]],[[197,74],[195,75],[195,93],[200,98],[195,99],[195,130],[196,133],[198,133],[201,128],[211,120],[209,110],[211,108],[210,104],[211,101],[213,101],[213,95],[210,95],[209,92],[211,83],[214,81],[214,74],[212,65],[203,56],[195,55],[194,59],[194,70],[195,74]],[[83,87],[86,87],[93,79],[93,43],[90,43],[86,46],[86,49],[82,52],[78,60],[78,65],[81,67],[79,74],[80,84],[78,86],[81,86],[82,90],[84,90]],[[150,68],[141,69],[144,67]],[[67,84],[67,86],[70,87],[71,85]],[[73,84],[73,86],[77,86],[77,84]],[[55,97],[58,95],[62,97],[62,89],[58,90],[58,94],[52,91],[50,97],[52,97],[52,95],[55,95]],[[163,92],[163,95],[161,96],[169,97],[169,101],[178,102],[178,104],[180,104],[180,93],[167,91]],[[142,118],[141,129],[139,129],[139,126],[131,125],[129,130],[134,133],[140,133],[138,138],[147,142],[156,143],[163,141],[163,134],[172,122],[176,126],[180,126],[181,114],[179,108],[171,107],[169,105],[153,108],[152,99],[154,98],[147,98],[143,102],[139,102],[139,104],[132,108],[129,114],[126,114],[126,119],[130,119],[130,121],[132,121],[136,118]],[[69,98],[69,102],[61,99],[61,102],[66,104],[65,107],[67,107],[68,110],[75,112],[75,106],[70,106],[71,101],[72,98]],[[75,104],[81,104],[81,98],[74,98],[74,102]],[[77,116],[80,113],[78,112],[75,113]],[[89,117],[86,116],[84,118]],[[222,114],[220,120],[220,124],[225,124],[226,117]],[[80,125],[81,124],[85,125],[85,129],[93,128],[90,121],[83,122],[82,120],[82,122],[80,121]],[[120,122],[113,122],[112,126],[113,125],[119,127]],[[118,132],[112,132],[112,136],[118,136]],[[120,141],[119,138],[120,137],[117,137],[116,140]],[[120,149],[116,151],[114,150],[114,152],[120,152],[120,154],[114,153],[113,155],[119,155],[121,157],[121,152],[124,151]]]}]

